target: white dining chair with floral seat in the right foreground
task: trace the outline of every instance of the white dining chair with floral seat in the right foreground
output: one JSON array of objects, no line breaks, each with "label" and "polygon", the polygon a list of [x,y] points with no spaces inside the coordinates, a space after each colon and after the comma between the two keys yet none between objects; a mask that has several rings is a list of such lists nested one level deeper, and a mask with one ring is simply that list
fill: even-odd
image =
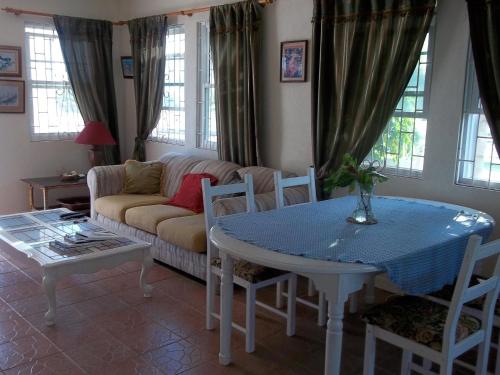
[{"label": "white dining chair with floral seat in the right foreground", "polygon": [[[403,349],[403,375],[409,375],[411,370],[431,374],[430,366],[426,365],[429,363],[439,365],[439,374],[451,375],[455,359],[475,347],[478,349],[475,374],[486,374],[500,286],[500,240],[485,245],[481,241],[478,235],[469,238],[449,306],[416,296],[398,296],[364,314],[367,321],[364,375],[374,374],[377,339]],[[496,257],[493,275],[469,286],[476,264],[490,257]],[[481,314],[468,315],[464,306],[478,298],[483,298]],[[415,364],[413,355],[422,357],[424,365]]]}]

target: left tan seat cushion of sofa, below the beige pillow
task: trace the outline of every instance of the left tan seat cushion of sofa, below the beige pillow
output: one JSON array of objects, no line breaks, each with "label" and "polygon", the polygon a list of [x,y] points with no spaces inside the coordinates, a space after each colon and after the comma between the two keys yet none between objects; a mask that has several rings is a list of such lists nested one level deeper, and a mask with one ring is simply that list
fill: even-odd
[{"label": "left tan seat cushion of sofa, below the beige pillow", "polygon": [[165,203],[167,199],[161,195],[118,194],[108,195],[94,201],[97,213],[107,218],[125,223],[125,211],[132,207]]}]

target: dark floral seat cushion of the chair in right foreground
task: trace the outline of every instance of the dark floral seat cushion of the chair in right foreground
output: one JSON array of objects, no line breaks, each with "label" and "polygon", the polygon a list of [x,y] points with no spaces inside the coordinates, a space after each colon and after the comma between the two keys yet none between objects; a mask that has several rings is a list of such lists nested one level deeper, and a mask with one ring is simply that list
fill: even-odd
[{"label": "dark floral seat cushion of the chair in right foreground", "polygon": [[[363,320],[434,350],[441,351],[448,308],[414,296],[398,296],[363,314]],[[462,314],[457,324],[457,342],[470,336],[481,324]]]}]

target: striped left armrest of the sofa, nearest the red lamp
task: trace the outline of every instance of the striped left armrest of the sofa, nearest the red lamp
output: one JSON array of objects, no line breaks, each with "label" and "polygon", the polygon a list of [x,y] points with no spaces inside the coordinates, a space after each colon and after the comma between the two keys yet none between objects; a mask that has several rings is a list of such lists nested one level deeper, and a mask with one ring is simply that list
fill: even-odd
[{"label": "striped left armrest of the sofa, nearest the red lamp", "polygon": [[97,198],[121,193],[125,182],[125,166],[106,165],[94,167],[87,174],[90,191],[90,216],[95,219],[94,201]]}]

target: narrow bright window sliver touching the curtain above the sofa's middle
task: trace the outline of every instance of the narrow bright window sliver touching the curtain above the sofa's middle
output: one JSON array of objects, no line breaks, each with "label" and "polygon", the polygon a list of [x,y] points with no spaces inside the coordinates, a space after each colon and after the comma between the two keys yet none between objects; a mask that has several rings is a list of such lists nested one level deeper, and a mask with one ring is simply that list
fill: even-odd
[{"label": "narrow bright window sliver touching the curtain above the sofa's middle", "polygon": [[198,125],[197,147],[217,149],[215,85],[207,22],[198,22]]}]

